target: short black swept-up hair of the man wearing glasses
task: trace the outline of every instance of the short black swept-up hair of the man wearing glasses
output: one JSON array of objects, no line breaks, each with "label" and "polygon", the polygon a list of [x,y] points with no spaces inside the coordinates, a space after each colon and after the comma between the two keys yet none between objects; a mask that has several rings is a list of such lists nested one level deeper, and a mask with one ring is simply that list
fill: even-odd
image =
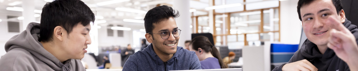
[{"label": "short black swept-up hair of the man wearing glasses", "polygon": [[173,8],[166,5],[154,7],[153,9],[149,10],[144,17],[144,27],[146,33],[153,32],[154,29],[153,23],[156,24],[163,20],[167,20],[170,17],[173,18],[179,17],[179,12],[173,10]]}]

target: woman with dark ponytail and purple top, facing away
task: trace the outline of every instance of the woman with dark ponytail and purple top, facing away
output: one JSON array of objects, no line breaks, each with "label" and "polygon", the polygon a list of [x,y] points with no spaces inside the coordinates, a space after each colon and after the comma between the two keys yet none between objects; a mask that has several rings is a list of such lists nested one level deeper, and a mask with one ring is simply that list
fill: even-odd
[{"label": "woman with dark ponytail and purple top, facing away", "polygon": [[197,54],[202,69],[226,68],[218,49],[210,43],[207,37],[198,36],[193,38],[189,44],[189,49],[190,51],[195,51],[195,54]]}]

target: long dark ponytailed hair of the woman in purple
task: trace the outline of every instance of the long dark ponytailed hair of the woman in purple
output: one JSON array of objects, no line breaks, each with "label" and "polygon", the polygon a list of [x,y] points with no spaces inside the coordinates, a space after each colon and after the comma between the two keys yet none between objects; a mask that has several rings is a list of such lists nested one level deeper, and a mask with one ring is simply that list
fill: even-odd
[{"label": "long dark ponytailed hair of the woman in purple", "polygon": [[210,43],[209,39],[205,36],[197,36],[192,39],[192,42],[190,45],[193,46],[192,49],[198,50],[198,48],[203,49],[205,52],[211,52],[211,54],[219,60],[219,64],[221,69],[227,68],[226,65],[224,65],[223,60],[220,56],[220,53],[216,47]]}]

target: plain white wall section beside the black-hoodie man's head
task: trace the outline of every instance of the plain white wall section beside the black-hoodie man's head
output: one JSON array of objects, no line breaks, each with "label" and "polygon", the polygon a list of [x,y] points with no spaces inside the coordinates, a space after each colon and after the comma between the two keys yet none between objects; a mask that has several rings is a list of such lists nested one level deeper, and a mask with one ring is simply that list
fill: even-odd
[{"label": "plain white wall section beside the black-hoodie man's head", "polygon": [[299,44],[302,24],[297,13],[298,0],[280,1],[280,37],[282,43]]}]

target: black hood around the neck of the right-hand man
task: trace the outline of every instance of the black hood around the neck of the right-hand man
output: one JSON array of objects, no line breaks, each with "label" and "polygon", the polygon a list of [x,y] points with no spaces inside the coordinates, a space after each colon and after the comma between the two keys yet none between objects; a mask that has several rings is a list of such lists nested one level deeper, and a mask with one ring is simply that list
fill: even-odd
[{"label": "black hood around the neck of the right-hand man", "polygon": [[[357,30],[354,30],[357,28],[357,26],[351,24],[350,21],[348,21],[347,19],[345,19],[345,22],[343,23],[343,25],[348,28],[349,31],[351,31],[351,33],[353,34],[357,34],[355,32],[357,32]],[[357,38],[357,36],[355,36]],[[331,58],[333,56],[335,56],[335,53],[332,49],[329,49],[327,47],[327,50],[325,51],[324,54],[321,54],[317,45],[312,43],[310,40],[306,39],[305,42],[303,43],[302,47],[303,48],[301,50],[302,55],[305,57],[305,58],[308,58],[308,59],[316,59],[316,58],[319,58],[319,59],[328,59],[328,58]]]}]

